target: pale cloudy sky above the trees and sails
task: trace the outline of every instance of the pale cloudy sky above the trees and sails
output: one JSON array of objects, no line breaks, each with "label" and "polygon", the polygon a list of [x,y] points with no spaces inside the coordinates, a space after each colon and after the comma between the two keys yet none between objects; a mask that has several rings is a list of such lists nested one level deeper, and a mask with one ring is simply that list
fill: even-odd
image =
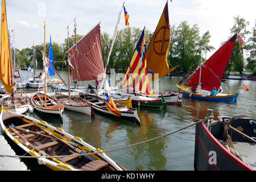
[{"label": "pale cloudy sky above the trees and sails", "polygon": [[[130,27],[155,31],[167,0],[6,0],[9,30],[15,31],[15,47],[32,47],[44,42],[44,21],[46,21],[46,42],[51,35],[52,42],[63,43],[77,22],[77,34],[86,35],[98,22],[101,31],[113,36],[118,13],[122,4],[130,16]],[[208,56],[217,51],[221,43],[230,37],[234,16],[239,15],[250,22],[251,31],[256,23],[255,0],[168,0],[170,25],[178,26],[187,20],[190,26],[197,24],[200,35],[210,32]],[[125,28],[122,10],[118,30]],[[248,37],[249,38],[249,37]],[[246,42],[248,38],[243,38]],[[247,42],[246,42],[247,43]],[[207,56],[207,57],[208,57]]]}]

